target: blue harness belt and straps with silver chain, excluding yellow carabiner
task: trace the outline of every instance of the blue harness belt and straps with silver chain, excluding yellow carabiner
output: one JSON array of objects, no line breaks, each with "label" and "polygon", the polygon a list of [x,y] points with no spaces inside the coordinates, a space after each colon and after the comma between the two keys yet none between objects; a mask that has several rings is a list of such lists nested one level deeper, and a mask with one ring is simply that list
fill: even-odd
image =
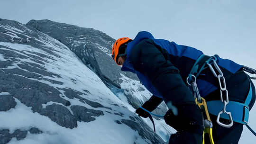
[{"label": "blue harness belt and straps with silver chain, excluding yellow carabiner", "polygon": [[[217,64],[217,55],[214,56],[207,56],[202,54],[197,61],[194,63],[192,70],[187,77],[187,83],[189,86],[192,87],[192,91],[194,92],[194,97],[198,98],[199,100],[202,99],[199,90],[196,85],[196,78],[200,75],[200,73],[205,70],[206,68],[210,68],[210,71],[213,73],[213,75],[218,78],[219,81],[219,88],[220,88],[220,99],[221,100],[212,100],[207,101],[208,107],[210,106],[210,113],[213,115],[218,116],[217,117],[217,123],[220,126],[223,127],[231,127],[233,125],[233,122],[238,122],[241,124],[244,124],[248,127],[248,129],[256,135],[256,133],[247,125],[248,118],[249,118],[249,103],[252,99],[252,84],[250,81],[250,89],[247,95],[247,99],[245,103],[239,103],[236,101],[229,101],[229,93],[226,87],[226,81],[225,77],[223,75],[223,72],[221,72],[218,64]],[[208,66],[207,66],[208,65]],[[214,69],[214,68],[215,69]],[[198,71],[199,69],[199,71]],[[217,71],[216,71],[217,70]],[[243,65],[243,71],[249,72],[251,74],[256,74],[256,70],[249,68],[247,66]],[[218,72],[218,74],[217,74]],[[250,77],[247,75],[250,79],[256,80],[255,77]],[[225,99],[223,99],[225,98]],[[221,106],[224,104],[224,107]],[[229,105],[228,105],[229,104]],[[233,111],[233,115],[231,115],[231,111]],[[221,114],[227,114],[227,115],[221,115]],[[229,120],[229,124],[223,124],[219,121],[219,118],[224,118]]]}]

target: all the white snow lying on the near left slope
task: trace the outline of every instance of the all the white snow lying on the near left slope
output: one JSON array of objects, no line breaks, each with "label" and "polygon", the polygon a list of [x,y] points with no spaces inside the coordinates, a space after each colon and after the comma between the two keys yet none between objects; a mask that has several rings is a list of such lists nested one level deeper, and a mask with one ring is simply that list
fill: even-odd
[{"label": "all the white snow lying on the near left slope", "polygon": [[[19,33],[21,33],[21,31],[19,31]],[[16,138],[13,138],[9,144],[81,144],[81,142],[86,142],[87,144],[133,144],[134,142],[137,144],[146,144],[146,141],[143,140],[140,135],[138,135],[137,131],[132,130],[127,125],[119,125],[115,122],[116,120],[121,121],[121,119],[130,119],[129,116],[136,117],[136,115],[132,111],[129,111],[126,108],[126,104],[118,99],[110,91],[110,89],[106,87],[101,79],[86,65],[84,65],[75,54],[73,54],[65,45],[43,33],[39,33],[38,38],[35,38],[35,40],[38,41],[38,44],[42,44],[40,45],[40,48],[31,45],[0,42],[0,45],[5,46],[0,46],[0,49],[13,51],[27,57],[27,59],[16,57],[18,60],[15,63],[12,63],[12,66],[7,68],[21,69],[18,66],[18,64],[21,64],[21,62],[39,64],[40,66],[44,67],[47,72],[53,72],[58,74],[60,77],[49,77],[37,73],[43,79],[37,80],[35,78],[25,78],[46,83],[56,90],[59,90],[61,93],[60,96],[63,99],[70,101],[71,105],[66,108],[68,108],[72,114],[73,112],[71,111],[70,107],[79,105],[86,108],[101,110],[104,112],[104,116],[97,118],[95,117],[96,120],[89,123],[77,122],[78,126],[76,128],[69,129],[57,125],[49,117],[42,116],[37,112],[33,112],[31,107],[27,107],[18,99],[14,98],[17,103],[16,107],[11,108],[8,111],[0,112],[0,129],[9,129],[10,133],[13,133],[16,129],[29,130],[31,127],[36,127],[43,131],[43,133],[30,134],[28,132],[25,139],[18,141]],[[50,52],[54,53],[54,55],[48,54],[48,51],[44,51],[44,49],[49,50]],[[22,51],[24,53],[20,53],[18,51]],[[41,57],[45,60],[45,64],[40,64],[33,61],[33,55],[37,54],[32,54],[31,52],[47,55],[47,57]],[[3,58],[4,56],[0,55],[0,60]],[[22,70],[27,71],[25,69]],[[46,79],[60,81],[63,84],[52,83]],[[124,116],[120,117],[109,114],[105,112],[106,108],[93,108],[87,103],[82,103],[79,101],[79,99],[69,99],[65,96],[64,90],[60,89],[72,89],[82,93],[84,93],[84,90],[89,90],[90,93],[87,93],[86,95],[82,94],[80,97],[94,102],[100,102],[104,107],[112,109],[108,111],[122,112]],[[51,93],[51,91],[47,92]],[[3,94],[9,93],[0,93],[0,95]],[[53,101],[43,104],[42,106],[43,108],[46,108],[52,104],[63,106],[63,104]],[[119,107],[113,106],[112,104],[117,104]]]}]

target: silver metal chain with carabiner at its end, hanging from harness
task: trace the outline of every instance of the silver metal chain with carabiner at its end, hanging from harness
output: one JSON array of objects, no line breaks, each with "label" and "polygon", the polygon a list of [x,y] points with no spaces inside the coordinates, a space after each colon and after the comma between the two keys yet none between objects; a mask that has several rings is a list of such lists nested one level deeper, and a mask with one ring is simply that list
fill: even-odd
[{"label": "silver metal chain with carabiner at its end, hanging from harness", "polygon": [[[214,57],[215,58],[215,57]],[[216,73],[216,71],[213,69],[212,67],[212,63],[210,63],[212,61],[213,63],[213,66],[214,68],[218,71],[218,75]],[[220,125],[220,126],[223,126],[223,127],[231,127],[233,126],[233,119],[232,119],[232,115],[230,112],[227,112],[226,110],[226,107],[229,103],[229,92],[227,90],[227,86],[226,86],[226,81],[225,81],[225,77],[223,75],[223,72],[220,70],[218,64],[216,63],[216,58],[215,59],[209,59],[208,61],[206,61],[207,65],[209,66],[210,68],[210,71],[213,73],[213,75],[218,78],[218,81],[219,81],[219,90],[220,90],[220,99],[221,99],[221,102],[223,102],[224,104],[224,108],[219,112],[218,114],[218,117],[217,117],[217,123]],[[225,95],[225,99],[223,99],[223,94]],[[226,124],[223,124],[219,121],[219,118],[220,118],[220,114],[228,114],[229,115],[229,121],[230,121],[230,124],[226,125]]]}]

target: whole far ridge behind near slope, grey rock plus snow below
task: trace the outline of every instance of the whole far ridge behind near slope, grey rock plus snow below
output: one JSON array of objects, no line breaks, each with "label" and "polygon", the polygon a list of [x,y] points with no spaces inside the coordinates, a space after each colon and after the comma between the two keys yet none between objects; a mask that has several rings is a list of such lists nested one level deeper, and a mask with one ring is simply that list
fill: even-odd
[{"label": "whole far ridge behind near slope, grey rock plus snow below", "polygon": [[[120,71],[120,66],[111,57],[111,47],[115,40],[105,33],[93,28],[78,27],[47,19],[30,20],[27,25],[68,46],[132,112],[152,96],[140,84],[135,74]],[[164,115],[166,111],[167,107],[163,102],[154,113]],[[175,130],[166,126],[163,119],[158,117],[154,119],[156,133],[164,140],[168,140],[169,135]],[[144,120],[153,128],[148,118]]]}]

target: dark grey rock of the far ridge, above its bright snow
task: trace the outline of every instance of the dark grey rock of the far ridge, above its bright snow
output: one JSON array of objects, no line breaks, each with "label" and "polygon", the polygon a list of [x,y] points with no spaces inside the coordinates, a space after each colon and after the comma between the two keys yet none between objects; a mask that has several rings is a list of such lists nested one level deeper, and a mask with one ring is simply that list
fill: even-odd
[{"label": "dark grey rock of the far ridge, above its bright snow", "polygon": [[131,72],[122,72],[112,58],[112,44],[115,39],[93,28],[83,28],[50,20],[30,20],[27,25],[68,46],[84,64],[93,70],[104,83],[119,87],[120,73],[129,78],[137,76]]}]

